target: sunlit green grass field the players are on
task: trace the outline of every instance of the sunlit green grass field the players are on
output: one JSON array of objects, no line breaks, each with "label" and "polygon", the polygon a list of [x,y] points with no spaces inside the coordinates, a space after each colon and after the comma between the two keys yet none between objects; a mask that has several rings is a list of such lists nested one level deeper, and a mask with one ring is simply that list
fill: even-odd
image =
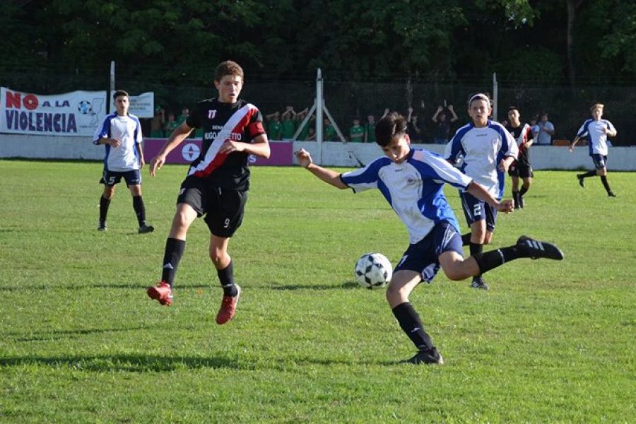
[{"label": "sunlit green grass field the players are on", "polygon": [[581,189],[574,172],[537,172],[493,245],[527,234],[557,243],[565,260],[502,266],[486,275],[489,292],[442,274],[418,287],[411,302],[446,364],[416,367],[396,364],[414,348],[382,290],[353,282],[360,254],[395,263],[408,244],[378,192],[253,168],[230,244],[243,295],[218,326],[202,220],[175,304],[145,293],[185,168],[143,171],[148,235],[136,234],[123,184],[108,231],[96,230],[100,172],[0,161],[0,422],[635,421],[634,173],[611,172],[618,198],[608,199],[598,179]]}]

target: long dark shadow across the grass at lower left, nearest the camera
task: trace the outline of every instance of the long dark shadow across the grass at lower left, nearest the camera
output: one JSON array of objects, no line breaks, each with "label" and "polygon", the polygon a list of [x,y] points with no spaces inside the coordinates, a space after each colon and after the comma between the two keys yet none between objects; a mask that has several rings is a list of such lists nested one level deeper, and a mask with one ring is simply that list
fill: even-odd
[{"label": "long dark shadow across the grass at lower left, nearest the camera", "polygon": [[166,372],[201,368],[234,368],[252,370],[248,361],[238,363],[230,358],[200,358],[194,356],[156,355],[93,355],[73,357],[13,357],[0,358],[0,368],[16,366],[45,366],[91,372]]}]

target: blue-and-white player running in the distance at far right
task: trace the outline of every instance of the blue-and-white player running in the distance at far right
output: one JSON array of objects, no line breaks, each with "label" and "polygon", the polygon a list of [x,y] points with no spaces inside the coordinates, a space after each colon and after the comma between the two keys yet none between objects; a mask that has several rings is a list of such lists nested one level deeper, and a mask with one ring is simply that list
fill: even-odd
[{"label": "blue-and-white player running in the distance at far right", "polygon": [[585,187],[583,181],[585,178],[599,175],[607,195],[609,197],[616,197],[616,194],[612,192],[607,182],[607,138],[616,136],[617,131],[611,122],[607,119],[601,119],[601,117],[603,117],[603,107],[601,103],[596,103],[596,105],[590,107],[592,117],[591,119],[587,119],[581,128],[579,128],[577,136],[574,141],[572,141],[572,144],[570,144],[570,152],[572,152],[572,149],[577,145],[580,139],[583,137],[589,138],[589,155],[592,161],[594,161],[596,170],[588,171],[584,174],[577,174],[579,185]]}]

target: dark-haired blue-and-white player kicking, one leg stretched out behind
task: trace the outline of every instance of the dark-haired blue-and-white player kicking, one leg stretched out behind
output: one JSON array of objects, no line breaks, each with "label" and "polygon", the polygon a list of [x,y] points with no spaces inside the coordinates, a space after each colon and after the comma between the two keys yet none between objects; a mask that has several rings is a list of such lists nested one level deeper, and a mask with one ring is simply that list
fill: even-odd
[{"label": "dark-haired blue-and-white player kicking, one leg stretched out behind", "polygon": [[418,349],[404,362],[442,364],[420,317],[408,301],[413,288],[430,283],[440,267],[451,280],[463,280],[519,258],[563,259],[563,253],[547,242],[522,235],[517,244],[464,259],[459,225],[444,197],[444,182],[483,199],[497,211],[512,211],[512,200],[497,201],[485,187],[450,165],[444,158],[411,148],[406,119],[392,113],[375,128],[376,142],[386,157],[377,158],[360,170],[339,174],[312,163],[310,153],[297,151],[298,163],[322,181],[354,192],[379,189],[408,230],[409,245],[395,267],[387,287],[387,301],[399,326]]}]

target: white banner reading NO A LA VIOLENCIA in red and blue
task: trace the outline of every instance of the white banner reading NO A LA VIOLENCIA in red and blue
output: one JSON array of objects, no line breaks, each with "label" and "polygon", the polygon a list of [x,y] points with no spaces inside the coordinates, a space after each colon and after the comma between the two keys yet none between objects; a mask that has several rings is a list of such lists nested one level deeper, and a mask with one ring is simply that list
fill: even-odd
[{"label": "white banner reading NO A LA VIOLENCIA in red and blue", "polygon": [[39,95],[0,88],[2,133],[92,137],[105,116],[105,91]]}]

